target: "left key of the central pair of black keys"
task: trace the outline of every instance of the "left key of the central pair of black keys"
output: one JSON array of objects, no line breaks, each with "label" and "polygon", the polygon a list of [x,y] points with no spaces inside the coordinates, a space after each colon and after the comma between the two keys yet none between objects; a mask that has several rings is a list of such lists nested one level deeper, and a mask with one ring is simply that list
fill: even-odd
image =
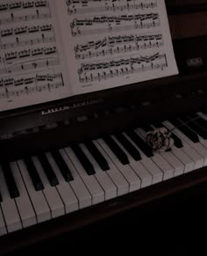
[{"label": "left key of the central pair of black keys", "polygon": [[86,157],[80,146],[78,144],[72,144],[70,145],[70,148],[74,151],[75,156],[78,158],[88,175],[94,175],[96,173],[94,166],[90,163],[88,157]]}]

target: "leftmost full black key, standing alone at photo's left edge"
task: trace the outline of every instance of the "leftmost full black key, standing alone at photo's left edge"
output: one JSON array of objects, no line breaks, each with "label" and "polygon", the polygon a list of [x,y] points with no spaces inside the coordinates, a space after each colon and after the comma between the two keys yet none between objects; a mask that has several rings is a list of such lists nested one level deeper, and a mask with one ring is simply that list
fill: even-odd
[{"label": "leftmost full black key, standing alone at photo's left edge", "polygon": [[11,172],[10,164],[7,162],[3,162],[3,163],[1,163],[1,166],[2,166],[4,178],[5,178],[6,185],[8,187],[11,198],[19,197],[20,194],[18,192],[18,187],[15,182],[13,173]]}]

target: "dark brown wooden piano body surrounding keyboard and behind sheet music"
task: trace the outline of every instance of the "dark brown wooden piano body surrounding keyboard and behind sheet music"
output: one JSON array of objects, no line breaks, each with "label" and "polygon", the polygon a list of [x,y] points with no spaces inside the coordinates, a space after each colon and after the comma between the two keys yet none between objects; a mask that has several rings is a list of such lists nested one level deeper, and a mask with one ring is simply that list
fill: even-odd
[{"label": "dark brown wooden piano body surrounding keyboard and behind sheet music", "polygon": [[[166,1],[166,4],[180,70],[178,76],[1,113],[0,157],[15,161],[37,152],[66,147],[71,142],[123,131],[146,121],[206,109],[207,1],[177,0]],[[189,224],[189,219],[195,208],[196,218],[199,210],[203,210],[198,201],[207,193],[206,171],[204,167],[0,237],[0,254],[31,250],[59,252],[55,249],[58,245],[78,252],[81,243],[84,246],[91,243],[92,247],[92,243],[98,246],[108,243],[121,252],[122,246],[118,243],[131,245],[132,249],[132,244],[139,242],[137,246],[145,247],[147,239],[149,243],[157,243],[158,249],[163,246],[161,241],[171,246],[176,243],[171,233],[175,229],[180,227],[178,240],[187,236],[189,225],[196,230],[195,220],[191,219]],[[196,220],[198,225],[204,224],[203,216]],[[159,238],[156,229],[161,229]],[[132,231],[138,233],[137,240]],[[187,241],[187,237],[183,240]]]}]

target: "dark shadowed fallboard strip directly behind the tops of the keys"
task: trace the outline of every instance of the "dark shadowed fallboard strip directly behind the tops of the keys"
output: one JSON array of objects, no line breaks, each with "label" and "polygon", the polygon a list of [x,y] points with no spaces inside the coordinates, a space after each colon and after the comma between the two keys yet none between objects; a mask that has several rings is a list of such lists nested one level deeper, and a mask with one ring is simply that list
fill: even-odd
[{"label": "dark shadowed fallboard strip directly behind the tops of the keys", "polygon": [[168,99],[151,106],[140,106],[129,112],[109,113],[98,118],[71,123],[67,126],[41,130],[0,141],[0,159],[10,161],[39,152],[68,147],[70,143],[82,143],[102,135],[138,127],[146,121],[168,119],[176,113],[195,113],[206,107],[206,94],[191,99]]}]

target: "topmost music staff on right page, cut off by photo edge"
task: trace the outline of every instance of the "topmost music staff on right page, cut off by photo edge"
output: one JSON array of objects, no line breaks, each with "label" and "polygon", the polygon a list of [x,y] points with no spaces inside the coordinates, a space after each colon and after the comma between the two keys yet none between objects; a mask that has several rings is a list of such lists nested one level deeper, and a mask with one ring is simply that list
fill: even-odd
[{"label": "topmost music staff on right page, cut off by photo edge", "polygon": [[[86,14],[103,11],[145,11],[157,7],[157,1],[136,1],[136,0],[119,0],[119,1],[67,1],[68,13]],[[96,4],[94,4],[96,3]]]}]

